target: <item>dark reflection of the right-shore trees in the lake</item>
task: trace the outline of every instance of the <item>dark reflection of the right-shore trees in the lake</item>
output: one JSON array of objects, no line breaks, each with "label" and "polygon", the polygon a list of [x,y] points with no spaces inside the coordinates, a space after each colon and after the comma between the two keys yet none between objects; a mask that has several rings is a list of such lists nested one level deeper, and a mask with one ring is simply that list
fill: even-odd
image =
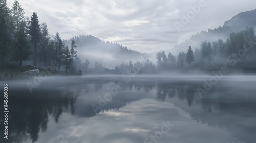
[{"label": "dark reflection of the right-shore trees in the lake", "polygon": [[[221,84],[220,84],[221,85]],[[228,88],[216,85],[207,93],[203,94],[199,102],[194,102],[197,94],[197,84],[182,82],[159,82],[157,83],[157,98],[164,101],[166,94],[169,98],[177,97],[180,101],[187,100],[188,106],[195,106],[199,103],[203,112],[187,110],[181,106],[182,110],[188,111],[190,116],[197,122],[208,124],[209,126],[220,126],[227,128],[238,139],[253,143],[256,140],[254,131],[255,98],[254,91],[244,91],[239,94]],[[179,107],[179,104],[176,104]],[[195,108],[198,110],[198,108]]]}]

